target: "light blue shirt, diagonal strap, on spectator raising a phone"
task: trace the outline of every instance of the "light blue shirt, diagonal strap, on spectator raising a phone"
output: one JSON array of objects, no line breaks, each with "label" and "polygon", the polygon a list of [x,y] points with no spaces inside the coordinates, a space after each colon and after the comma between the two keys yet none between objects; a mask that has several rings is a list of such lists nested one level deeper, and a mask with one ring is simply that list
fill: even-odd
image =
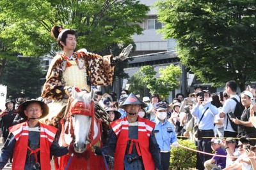
[{"label": "light blue shirt, diagonal strap, on spectator raising a phone", "polygon": [[[209,108],[207,111],[205,111]],[[205,113],[204,113],[205,111]],[[191,110],[191,115],[196,117],[196,122],[200,121],[200,118],[204,114],[200,124],[198,125],[200,130],[210,130],[214,128],[214,116],[218,114],[218,109],[216,106],[212,105],[211,103],[205,104],[196,104],[193,109]]]}]

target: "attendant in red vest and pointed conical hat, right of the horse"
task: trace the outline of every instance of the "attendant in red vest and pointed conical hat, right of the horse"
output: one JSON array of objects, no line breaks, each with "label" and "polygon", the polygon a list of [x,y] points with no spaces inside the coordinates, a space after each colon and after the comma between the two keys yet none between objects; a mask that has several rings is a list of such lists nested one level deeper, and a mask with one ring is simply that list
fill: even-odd
[{"label": "attendant in red vest and pointed conical hat, right of the horse", "polygon": [[130,94],[119,106],[127,115],[111,123],[111,132],[106,146],[95,147],[95,154],[115,153],[114,169],[161,169],[160,148],[154,136],[155,123],[138,117],[143,103]]}]

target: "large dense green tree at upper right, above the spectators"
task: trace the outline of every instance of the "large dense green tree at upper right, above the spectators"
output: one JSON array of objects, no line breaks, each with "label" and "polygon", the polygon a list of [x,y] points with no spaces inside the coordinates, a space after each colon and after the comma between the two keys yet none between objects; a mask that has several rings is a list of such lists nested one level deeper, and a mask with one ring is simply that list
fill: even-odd
[{"label": "large dense green tree at upper right, above the spectators", "polygon": [[204,83],[256,78],[256,1],[166,0],[156,3],[164,38],[177,39],[179,58]]}]

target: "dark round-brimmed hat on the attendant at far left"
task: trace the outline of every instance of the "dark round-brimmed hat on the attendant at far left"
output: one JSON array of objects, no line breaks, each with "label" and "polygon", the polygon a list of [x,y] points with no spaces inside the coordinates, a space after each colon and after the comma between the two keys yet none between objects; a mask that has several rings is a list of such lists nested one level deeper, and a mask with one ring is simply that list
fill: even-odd
[{"label": "dark round-brimmed hat on the attendant at far left", "polygon": [[19,115],[20,115],[20,117],[22,117],[22,118],[27,118],[27,116],[26,116],[25,113],[24,113],[24,110],[26,110],[26,108],[28,107],[28,105],[31,104],[31,103],[38,103],[38,104],[41,105],[43,111],[42,111],[42,116],[41,116],[40,118],[44,118],[44,117],[46,117],[46,116],[48,115],[48,113],[49,113],[49,107],[47,106],[47,104],[45,104],[45,103],[42,102],[42,101],[37,101],[37,100],[35,100],[35,99],[32,99],[32,100],[29,100],[29,101],[26,101],[26,102],[20,104],[20,106],[19,106],[19,108],[18,108],[18,110],[17,110],[18,113],[19,113]]}]

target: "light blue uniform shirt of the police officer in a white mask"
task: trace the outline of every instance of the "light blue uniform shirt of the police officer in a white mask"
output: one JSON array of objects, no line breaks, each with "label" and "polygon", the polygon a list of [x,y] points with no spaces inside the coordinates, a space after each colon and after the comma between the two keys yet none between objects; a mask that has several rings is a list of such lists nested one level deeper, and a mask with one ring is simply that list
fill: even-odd
[{"label": "light blue uniform shirt of the police officer in a white mask", "polygon": [[156,123],[155,136],[160,150],[170,152],[170,145],[175,141],[178,142],[175,127],[166,119],[164,120],[164,123],[160,122],[157,117],[152,120],[152,122]]}]

